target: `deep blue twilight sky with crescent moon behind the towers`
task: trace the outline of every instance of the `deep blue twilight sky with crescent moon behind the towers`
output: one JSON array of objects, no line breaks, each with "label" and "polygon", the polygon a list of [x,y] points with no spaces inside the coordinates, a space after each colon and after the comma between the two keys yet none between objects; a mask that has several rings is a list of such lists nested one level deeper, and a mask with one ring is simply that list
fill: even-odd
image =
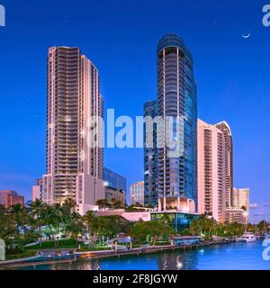
[{"label": "deep blue twilight sky with crescent moon behind the towers", "polygon": [[[0,189],[29,198],[31,184],[45,172],[50,46],[79,47],[100,71],[105,107],[135,117],[156,98],[157,41],[175,32],[193,53],[199,117],[229,122],[235,186],[250,187],[253,214],[270,219],[270,27],[262,24],[267,1],[0,4],[6,9],[6,27],[0,27]],[[105,165],[130,184],[143,178],[142,155],[141,149],[106,149]]]}]

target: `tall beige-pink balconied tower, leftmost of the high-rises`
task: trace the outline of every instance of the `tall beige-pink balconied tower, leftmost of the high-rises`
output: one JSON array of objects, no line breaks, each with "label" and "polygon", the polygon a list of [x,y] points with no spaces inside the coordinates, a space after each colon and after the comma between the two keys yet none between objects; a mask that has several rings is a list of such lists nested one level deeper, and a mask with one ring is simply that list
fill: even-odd
[{"label": "tall beige-pink balconied tower, leftmost of the high-rises", "polygon": [[[76,200],[84,213],[104,198],[103,131],[92,116],[103,116],[99,73],[77,48],[52,47],[48,57],[47,172],[42,200]],[[91,144],[91,145],[90,145]]]}]

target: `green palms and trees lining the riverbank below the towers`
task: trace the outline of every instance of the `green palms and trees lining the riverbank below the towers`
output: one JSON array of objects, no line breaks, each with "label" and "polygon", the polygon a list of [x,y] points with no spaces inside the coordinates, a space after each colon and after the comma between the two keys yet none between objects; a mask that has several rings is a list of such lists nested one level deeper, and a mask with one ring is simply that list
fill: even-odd
[{"label": "green palms and trees lining the riverbank below the towers", "polygon": [[[107,202],[101,202],[104,207]],[[113,201],[114,208],[119,202]],[[130,207],[133,210],[133,207]],[[121,216],[95,216],[88,211],[84,217],[76,212],[76,202],[67,199],[62,205],[52,206],[36,200],[25,206],[19,204],[7,209],[0,205],[0,238],[4,239],[8,257],[30,255],[46,248],[78,248],[98,250],[108,248],[108,241],[118,234],[130,235],[133,247],[142,244],[168,244],[172,235],[198,235],[210,239],[212,236],[234,238],[244,230],[266,232],[266,221],[258,225],[238,223],[219,224],[206,215],[193,220],[189,229],[174,231],[174,225],[164,216],[159,221],[132,223]]]}]

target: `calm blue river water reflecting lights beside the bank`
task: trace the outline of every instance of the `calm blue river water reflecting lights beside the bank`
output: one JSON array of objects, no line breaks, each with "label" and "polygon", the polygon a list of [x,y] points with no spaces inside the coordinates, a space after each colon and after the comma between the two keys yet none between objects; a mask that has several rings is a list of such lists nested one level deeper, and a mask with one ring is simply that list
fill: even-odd
[{"label": "calm blue river water reflecting lights beside the bank", "polygon": [[186,251],[160,252],[143,256],[103,258],[71,264],[27,267],[39,270],[269,270],[263,258],[262,241],[199,247]]}]

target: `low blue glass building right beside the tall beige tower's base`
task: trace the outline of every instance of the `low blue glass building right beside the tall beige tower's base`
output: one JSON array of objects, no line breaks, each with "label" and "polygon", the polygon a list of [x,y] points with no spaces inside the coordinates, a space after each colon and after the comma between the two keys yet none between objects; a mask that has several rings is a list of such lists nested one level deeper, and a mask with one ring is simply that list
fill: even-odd
[{"label": "low blue glass building right beside the tall beige tower's base", "polygon": [[126,202],[127,179],[124,176],[104,167],[103,180],[105,185],[106,199],[111,201],[112,198],[114,198],[121,201],[121,203],[124,205]]}]

